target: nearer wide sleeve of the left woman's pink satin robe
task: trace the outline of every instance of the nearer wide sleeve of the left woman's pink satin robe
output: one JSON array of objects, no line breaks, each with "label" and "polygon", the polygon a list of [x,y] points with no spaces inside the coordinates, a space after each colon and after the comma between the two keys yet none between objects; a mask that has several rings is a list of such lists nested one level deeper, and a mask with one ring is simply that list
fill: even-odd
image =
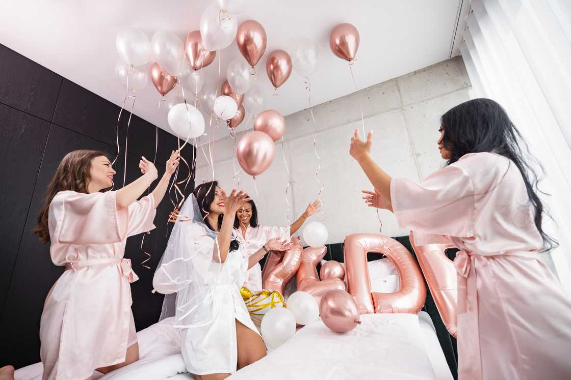
[{"label": "nearer wide sleeve of the left woman's pink satin robe", "polygon": [[115,191],[62,191],[51,201],[49,214],[53,244],[109,244],[127,237],[127,210],[117,211]]}]

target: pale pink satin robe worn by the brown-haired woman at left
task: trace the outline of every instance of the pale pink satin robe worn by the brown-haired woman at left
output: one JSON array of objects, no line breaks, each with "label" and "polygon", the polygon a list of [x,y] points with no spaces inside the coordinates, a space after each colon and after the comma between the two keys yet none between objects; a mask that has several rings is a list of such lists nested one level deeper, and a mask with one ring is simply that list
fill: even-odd
[{"label": "pale pink satin robe worn by the brown-haired woman at left", "polygon": [[50,203],[50,254],[66,265],[44,304],[40,356],[43,379],[86,379],[125,361],[137,342],[131,285],[138,277],[123,259],[128,236],[155,228],[152,194],[116,210],[115,191],[61,191]]}]

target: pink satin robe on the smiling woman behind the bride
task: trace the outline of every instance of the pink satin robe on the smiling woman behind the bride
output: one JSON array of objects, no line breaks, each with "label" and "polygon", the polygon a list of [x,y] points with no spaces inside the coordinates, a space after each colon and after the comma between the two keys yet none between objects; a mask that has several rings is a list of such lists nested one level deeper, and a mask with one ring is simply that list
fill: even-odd
[{"label": "pink satin robe on the smiling woman behind the bride", "polygon": [[[246,228],[246,236],[242,235],[241,228],[235,228],[240,244],[244,244],[244,255],[249,258],[254,255],[268,240],[280,238],[281,240],[289,240],[289,227],[269,227],[269,226],[248,226]],[[262,267],[260,263],[256,263],[248,269],[248,276],[244,287],[255,292],[262,290]]]}]

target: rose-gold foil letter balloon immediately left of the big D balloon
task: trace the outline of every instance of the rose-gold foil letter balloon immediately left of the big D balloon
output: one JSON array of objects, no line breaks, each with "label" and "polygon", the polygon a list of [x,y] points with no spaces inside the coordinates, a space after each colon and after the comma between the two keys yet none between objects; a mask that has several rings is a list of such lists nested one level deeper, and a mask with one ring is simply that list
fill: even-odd
[{"label": "rose-gold foil letter balloon immediately left of the big D balloon", "polygon": [[319,248],[308,247],[301,252],[301,264],[295,275],[297,291],[308,292],[315,298],[317,304],[321,297],[332,289],[345,291],[345,283],[336,278],[320,281],[317,276],[317,263],[327,253],[325,246]]}]

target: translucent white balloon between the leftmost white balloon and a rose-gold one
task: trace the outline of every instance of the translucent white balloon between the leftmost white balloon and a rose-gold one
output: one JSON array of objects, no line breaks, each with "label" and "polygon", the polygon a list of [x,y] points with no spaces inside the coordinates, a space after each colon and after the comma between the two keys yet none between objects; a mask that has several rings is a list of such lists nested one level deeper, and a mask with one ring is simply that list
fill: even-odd
[{"label": "translucent white balloon between the leftmost white balloon and a rose-gold one", "polygon": [[152,58],[171,75],[179,75],[184,59],[184,46],[173,32],[159,30],[151,40]]}]

